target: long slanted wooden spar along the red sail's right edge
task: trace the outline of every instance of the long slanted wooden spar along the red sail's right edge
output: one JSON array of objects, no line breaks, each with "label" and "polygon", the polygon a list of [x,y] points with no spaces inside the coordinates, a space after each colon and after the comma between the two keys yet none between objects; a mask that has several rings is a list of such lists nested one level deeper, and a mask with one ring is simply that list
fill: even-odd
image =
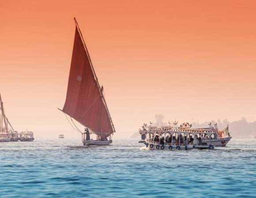
[{"label": "long slanted wooden spar along the red sail's right edge", "polygon": [[[78,28],[79,34],[80,34],[80,36],[81,36],[81,38],[82,38],[82,40],[83,40],[83,34],[82,34],[82,32],[81,32],[81,30],[80,30],[80,28],[79,28],[78,22],[76,21],[75,18],[74,18],[74,20],[75,20],[75,25],[76,25],[77,28]],[[87,46],[86,46],[84,40],[83,40],[83,46],[84,46],[85,51],[86,51],[86,53],[87,53],[87,56],[88,56],[88,59],[89,59],[89,62],[90,62],[90,66],[91,66],[91,68],[92,68],[92,71],[93,71],[93,73],[94,73],[95,80],[96,80],[97,85],[98,85],[99,92],[100,92],[101,95],[102,95],[102,99],[103,99],[104,105],[105,105],[106,110],[107,110],[107,113],[108,113],[108,115],[109,115],[109,120],[110,120],[111,125],[112,125],[112,127],[113,127],[113,132],[116,132],[115,127],[114,127],[114,124],[113,124],[113,121],[112,121],[112,118],[111,118],[110,113],[109,113],[109,109],[108,109],[107,103],[106,103],[106,101],[105,101],[105,97],[104,97],[104,95],[103,95],[102,92],[101,92],[101,87],[100,87],[100,84],[99,84],[99,82],[98,82],[98,78],[97,78],[97,75],[96,75],[96,73],[95,73],[93,64],[92,64],[91,59],[90,59],[89,51],[88,51],[88,49],[87,49]]]}]

